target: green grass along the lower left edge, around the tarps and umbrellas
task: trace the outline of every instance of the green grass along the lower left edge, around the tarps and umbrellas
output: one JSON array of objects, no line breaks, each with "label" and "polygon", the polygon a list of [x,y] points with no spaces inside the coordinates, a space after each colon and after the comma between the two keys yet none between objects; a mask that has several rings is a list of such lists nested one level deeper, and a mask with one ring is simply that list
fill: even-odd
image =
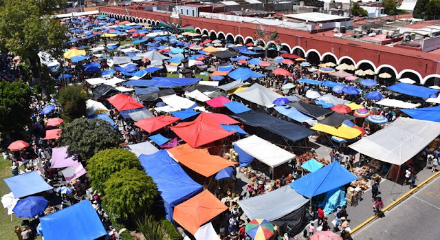
[{"label": "green grass along the lower left edge, around the tarps and umbrellas", "polygon": [[[11,162],[7,160],[3,160],[3,157],[0,156],[0,197],[2,197],[5,194],[8,194],[11,192],[8,185],[3,181],[3,178],[6,177],[12,177],[11,172]],[[23,166],[20,167],[23,169]],[[17,234],[14,232],[15,226],[21,227],[21,221],[23,219],[17,218],[17,215],[12,214],[12,221],[11,216],[8,215],[8,209],[3,208],[3,206],[0,207],[0,236],[1,240],[17,240]],[[41,239],[41,236],[37,237],[36,239]]]}]

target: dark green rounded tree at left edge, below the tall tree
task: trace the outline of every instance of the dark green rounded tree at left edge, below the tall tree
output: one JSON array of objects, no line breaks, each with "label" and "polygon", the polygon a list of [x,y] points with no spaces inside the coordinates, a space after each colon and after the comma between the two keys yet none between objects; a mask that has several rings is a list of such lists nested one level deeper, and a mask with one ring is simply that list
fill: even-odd
[{"label": "dark green rounded tree at left edge, below the tall tree", "polygon": [[14,132],[28,124],[32,91],[22,80],[0,82],[0,132]]}]

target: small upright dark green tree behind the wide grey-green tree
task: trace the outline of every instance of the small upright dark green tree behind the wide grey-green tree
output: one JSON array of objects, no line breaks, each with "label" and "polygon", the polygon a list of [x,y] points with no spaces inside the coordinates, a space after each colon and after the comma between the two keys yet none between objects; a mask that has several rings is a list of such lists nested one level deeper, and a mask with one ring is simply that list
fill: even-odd
[{"label": "small upright dark green tree behind the wide grey-green tree", "polygon": [[85,102],[87,101],[85,89],[79,85],[67,86],[58,95],[58,102],[63,107],[61,118],[70,122],[75,118],[86,116]]}]

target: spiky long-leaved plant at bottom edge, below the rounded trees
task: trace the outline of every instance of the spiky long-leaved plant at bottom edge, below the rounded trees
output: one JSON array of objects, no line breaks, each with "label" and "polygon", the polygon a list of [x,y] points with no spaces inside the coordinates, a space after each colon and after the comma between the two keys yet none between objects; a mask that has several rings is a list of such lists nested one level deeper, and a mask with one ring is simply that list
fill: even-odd
[{"label": "spiky long-leaved plant at bottom edge, below the rounded trees", "polygon": [[153,215],[145,215],[136,221],[137,229],[148,240],[166,240],[166,233],[161,223],[155,221]]}]

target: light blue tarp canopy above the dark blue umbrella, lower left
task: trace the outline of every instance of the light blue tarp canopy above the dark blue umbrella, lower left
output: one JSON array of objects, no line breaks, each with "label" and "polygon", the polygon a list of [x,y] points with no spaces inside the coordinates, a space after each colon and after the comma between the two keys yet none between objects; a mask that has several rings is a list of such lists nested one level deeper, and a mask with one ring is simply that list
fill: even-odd
[{"label": "light blue tarp canopy above the dark blue umbrella, lower left", "polygon": [[15,198],[26,197],[53,189],[37,171],[8,177],[3,179],[3,181],[5,181],[9,189],[14,193]]}]

